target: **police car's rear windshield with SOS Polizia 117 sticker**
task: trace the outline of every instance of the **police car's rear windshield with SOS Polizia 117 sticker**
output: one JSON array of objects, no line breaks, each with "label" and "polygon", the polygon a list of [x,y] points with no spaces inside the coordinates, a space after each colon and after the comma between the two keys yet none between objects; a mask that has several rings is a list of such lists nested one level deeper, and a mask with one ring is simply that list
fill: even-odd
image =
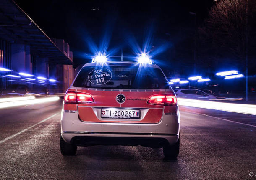
[{"label": "police car's rear windshield with SOS Polizia 117 sticker", "polygon": [[86,66],[73,84],[75,87],[102,89],[168,89],[161,69],[138,66]]}]

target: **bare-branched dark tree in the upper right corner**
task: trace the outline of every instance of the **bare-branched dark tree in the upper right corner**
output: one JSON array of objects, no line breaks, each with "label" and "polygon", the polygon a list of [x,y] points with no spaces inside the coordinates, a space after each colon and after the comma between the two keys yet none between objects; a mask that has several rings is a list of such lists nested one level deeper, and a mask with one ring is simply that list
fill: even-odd
[{"label": "bare-branched dark tree in the upper right corner", "polygon": [[[256,57],[256,0],[248,0],[249,64]],[[246,0],[219,0],[209,10],[204,26],[199,28],[201,48],[217,57],[232,57],[245,69],[246,64]],[[207,51],[208,53],[209,51]],[[209,54],[209,53],[208,53]],[[217,58],[216,57],[216,58]],[[253,67],[251,66],[251,69]]]}]

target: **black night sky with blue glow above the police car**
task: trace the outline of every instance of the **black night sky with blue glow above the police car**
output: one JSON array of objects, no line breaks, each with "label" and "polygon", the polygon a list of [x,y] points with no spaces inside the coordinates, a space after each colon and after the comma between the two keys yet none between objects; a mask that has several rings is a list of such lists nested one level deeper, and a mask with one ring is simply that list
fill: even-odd
[{"label": "black night sky with blue glow above the police car", "polygon": [[196,13],[198,27],[214,4],[214,0],[15,1],[49,37],[69,43],[75,66],[90,61],[86,54],[94,52],[88,42],[99,47],[105,40],[108,50],[115,50],[113,56],[120,56],[121,48],[123,56],[134,56],[129,41],[143,48],[151,37],[150,51],[167,45],[154,59],[167,67],[186,67],[184,71],[193,66],[194,16],[189,12]]}]

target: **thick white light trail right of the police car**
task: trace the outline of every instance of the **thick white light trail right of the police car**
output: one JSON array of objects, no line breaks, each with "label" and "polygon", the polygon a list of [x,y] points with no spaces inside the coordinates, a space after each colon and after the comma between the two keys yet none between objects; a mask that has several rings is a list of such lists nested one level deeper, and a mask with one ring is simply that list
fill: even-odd
[{"label": "thick white light trail right of the police car", "polygon": [[180,106],[190,106],[199,107],[206,109],[215,109],[227,112],[237,112],[243,114],[256,115],[256,105],[253,104],[235,104],[235,103],[225,103],[225,102],[212,102],[212,101],[201,101],[194,99],[184,99],[177,98],[178,105]]}]

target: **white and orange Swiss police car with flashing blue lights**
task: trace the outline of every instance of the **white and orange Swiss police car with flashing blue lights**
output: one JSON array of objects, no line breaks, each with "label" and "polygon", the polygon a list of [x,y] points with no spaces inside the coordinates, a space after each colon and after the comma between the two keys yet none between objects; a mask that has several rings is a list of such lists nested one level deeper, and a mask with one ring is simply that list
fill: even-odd
[{"label": "white and orange Swiss police car with flashing blue lights", "polygon": [[147,56],[138,62],[85,64],[65,93],[60,150],[75,155],[77,146],[141,145],[162,148],[176,158],[180,114],[175,93],[159,66]]}]

